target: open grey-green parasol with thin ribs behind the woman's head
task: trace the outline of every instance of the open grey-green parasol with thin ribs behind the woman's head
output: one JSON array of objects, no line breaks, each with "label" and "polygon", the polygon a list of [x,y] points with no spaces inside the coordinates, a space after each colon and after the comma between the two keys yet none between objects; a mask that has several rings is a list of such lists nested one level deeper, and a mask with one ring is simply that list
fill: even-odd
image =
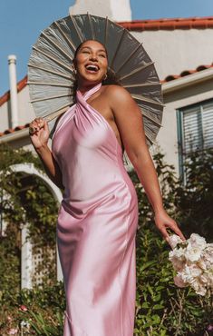
[{"label": "open grey-green parasol with thin ribs behind the woman's head", "polygon": [[163,110],[158,74],[142,44],[107,17],[66,16],[41,33],[28,64],[29,92],[35,115],[52,121],[50,128],[53,128],[53,119],[73,104],[73,55],[77,46],[87,39],[106,46],[109,68],[140,107],[147,143],[154,143]]}]

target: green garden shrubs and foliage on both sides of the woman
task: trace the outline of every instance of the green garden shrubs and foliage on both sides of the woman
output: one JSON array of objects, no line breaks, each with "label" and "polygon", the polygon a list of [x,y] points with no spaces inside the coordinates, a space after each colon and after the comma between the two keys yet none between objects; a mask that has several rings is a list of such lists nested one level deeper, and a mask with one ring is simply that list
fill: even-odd
[{"label": "green garden shrubs and foliage on both sides of the woman", "polygon": [[[3,153],[3,152],[2,152]],[[5,152],[4,152],[5,153]],[[31,153],[23,151],[7,151],[0,164],[1,170],[12,163],[23,160],[35,161]],[[11,158],[10,158],[10,155]],[[32,155],[33,156],[33,155]],[[187,165],[188,184],[183,185],[175,176],[174,168],[163,162],[163,155],[154,155],[157,173],[159,174],[164,205],[169,214],[179,223],[184,234],[198,232],[212,240],[212,187],[213,187],[213,154],[203,156],[192,155]],[[173,270],[168,259],[169,245],[164,242],[157,231],[150,203],[141,188],[138,177],[131,172],[139,199],[139,227],[136,236],[137,245],[137,300],[136,300],[136,336],[203,336],[208,324],[212,321],[212,297],[200,297],[191,289],[179,289],[173,282]],[[4,182],[4,176],[1,183]],[[21,181],[22,182],[22,181]],[[2,239],[0,253],[2,262],[0,277],[3,279],[0,290],[0,334],[5,336],[11,328],[21,332],[21,322],[29,322],[30,327],[23,334],[29,335],[62,335],[63,312],[65,299],[63,283],[55,283],[55,274],[50,274],[52,281],[43,288],[32,291],[19,290],[20,277],[20,237],[19,222],[24,221],[20,212],[21,201],[24,200],[27,216],[29,204],[32,203],[31,235],[36,242],[40,233],[44,236],[42,246],[54,246],[55,205],[44,185],[36,181],[36,187],[29,193],[17,197],[20,181],[13,180],[7,184],[13,197],[14,207],[8,212],[8,235]],[[21,183],[21,184],[19,184]],[[5,184],[4,184],[5,186]],[[35,188],[42,196],[38,198]],[[19,193],[20,194],[20,193]],[[29,202],[30,201],[30,202]],[[21,203],[20,203],[21,202]],[[41,204],[46,209],[41,211]],[[1,207],[3,209],[1,203]],[[44,208],[45,208],[44,207]],[[6,207],[4,208],[6,211]],[[36,219],[33,221],[33,219]],[[34,225],[34,222],[36,225]],[[39,227],[41,225],[41,228]],[[47,228],[47,226],[49,228]],[[47,230],[45,230],[47,229]],[[45,235],[45,232],[47,234]],[[22,306],[27,310],[22,309]],[[206,336],[208,333],[206,331]]]}]

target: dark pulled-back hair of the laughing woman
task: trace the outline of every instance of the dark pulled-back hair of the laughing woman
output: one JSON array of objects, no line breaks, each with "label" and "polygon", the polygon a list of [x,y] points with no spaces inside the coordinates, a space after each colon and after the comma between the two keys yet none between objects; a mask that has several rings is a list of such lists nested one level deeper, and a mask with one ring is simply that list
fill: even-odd
[{"label": "dark pulled-back hair of the laughing woman", "polygon": [[[74,52],[74,56],[73,56],[73,61],[75,60],[77,54],[78,54],[78,51],[81,49],[82,47],[82,44],[84,44],[85,42],[87,41],[95,41],[95,42],[98,42],[99,44],[102,44],[102,42],[98,41],[98,40],[85,40],[83,41],[81,44],[79,44]],[[104,44],[102,44],[103,48],[105,49],[106,51],[106,54],[107,54],[107,58],[108,58],[108,52],[107,52],[107,49],[105,47]],[[115,85],[121,85],[120,83],[120,80],[119,78],[116,76],[115,72],[110,68],[108,67],[107,69],[107,78],[104,79],[102,81],[102,85],[112,85],[112,84],[115,84]],[[78,83],[77,83],[77,79],[73,82],[73,102],[76,103],[76,100],[75,100],[75,95],[76,95],[76,91],[77,91],[77,88],[78,88]]]}]

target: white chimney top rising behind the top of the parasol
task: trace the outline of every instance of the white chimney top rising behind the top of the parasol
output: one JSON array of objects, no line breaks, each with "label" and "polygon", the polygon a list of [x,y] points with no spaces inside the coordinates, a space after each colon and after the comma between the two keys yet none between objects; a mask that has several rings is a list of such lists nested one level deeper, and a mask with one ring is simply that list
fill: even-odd
[{"label": "white chimney top rising behind the top of the parasol", "polygon": [[70,14],[108,16],[115,21],[131,21],[130,0],[76,0],[70,7]]}]

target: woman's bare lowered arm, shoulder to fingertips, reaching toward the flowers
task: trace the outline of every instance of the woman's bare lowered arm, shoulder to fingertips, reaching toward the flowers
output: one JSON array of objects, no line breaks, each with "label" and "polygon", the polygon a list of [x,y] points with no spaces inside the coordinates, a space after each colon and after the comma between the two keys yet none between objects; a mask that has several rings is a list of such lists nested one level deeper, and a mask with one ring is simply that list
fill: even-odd
[{"label": "woman's bare lowered arm, shoulder to fingertips, reaching toward the flowers", "polygon": [[169,239],[167,228],[170,228],[182,240],[185,240],[177,223],[169,217],[163,208],[160,184],[146,144],[142,116],[138,105],[131,98],[131,94],[121,86],[113,85],[113,87],[109,87],[109,94],[111,96],[111,109],[121,134],[122,143],[149,198],[155,213],[156,226],[166,241]]}]

